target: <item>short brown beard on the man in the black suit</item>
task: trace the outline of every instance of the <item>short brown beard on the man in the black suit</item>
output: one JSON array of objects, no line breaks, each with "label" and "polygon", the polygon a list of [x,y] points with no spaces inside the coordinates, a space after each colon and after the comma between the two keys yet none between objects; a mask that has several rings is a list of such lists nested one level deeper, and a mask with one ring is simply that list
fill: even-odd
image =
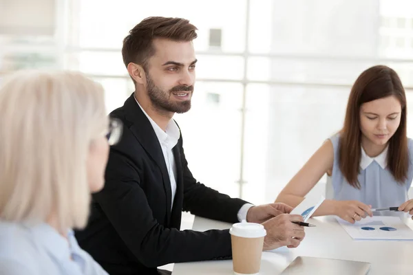
[{"label": "short brown beard on the man in the black suit", "polygon": [[169,91],[165,92],[162,89],[156,87],[155,83],[151,79],[151,76],[147,74],[147,91],[149,99],[151,100],[153,107],[158,111],[167,111],[172,113],[186,113],[191,109],[191,100],[186,101],[172,101],[169,100],[172,93],[189,91],[193,93],[193,85],[191,86],[175,86]]}]

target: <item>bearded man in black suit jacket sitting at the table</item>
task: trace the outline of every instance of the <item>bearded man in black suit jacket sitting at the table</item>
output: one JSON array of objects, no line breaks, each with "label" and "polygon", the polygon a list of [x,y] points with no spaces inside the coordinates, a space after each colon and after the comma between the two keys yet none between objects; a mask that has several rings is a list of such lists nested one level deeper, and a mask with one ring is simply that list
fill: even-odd
[{"label": "bearded man in black suit jacket sitting at the table", "polygon": [[[111,113],[123,121],[112,146],[105,188],[93,195],[78,243],[112,275],[167,274],[167,263],[231,256],[229,230],[180,231],[182,210],[231,223],[262,223],[264,250],[295,248],[302,221],[282,203],[253,206],[197,182],[188,168],[174,113],[191,108],[197,29],[178,18],[149,17],[123,41],[123,61],[135,91]],[[213,172],[213,171],[211,171]]]}]

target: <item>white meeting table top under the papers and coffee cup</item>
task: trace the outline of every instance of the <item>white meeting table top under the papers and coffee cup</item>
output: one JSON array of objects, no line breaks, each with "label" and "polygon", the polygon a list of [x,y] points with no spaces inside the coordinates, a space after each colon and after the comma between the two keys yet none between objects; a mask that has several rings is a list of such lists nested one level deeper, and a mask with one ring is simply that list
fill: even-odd
[{"label": "white meeting table top under the papers and coffee cup", "polygon": [[[263,252],[261,275],[280,274],[296,256],[366,261],[371,263],[369,275],[413,274],[413,241],[353,241],[334,217],[309,220],[316,228],[306,228],[306,238],[298,248],[279,248]],[[406,224],[413,229],[412,219]],[[226,229],[231,224],[195,217],[193,230]],[[233,274],[232,261],[176,263],[173,275]]]}]

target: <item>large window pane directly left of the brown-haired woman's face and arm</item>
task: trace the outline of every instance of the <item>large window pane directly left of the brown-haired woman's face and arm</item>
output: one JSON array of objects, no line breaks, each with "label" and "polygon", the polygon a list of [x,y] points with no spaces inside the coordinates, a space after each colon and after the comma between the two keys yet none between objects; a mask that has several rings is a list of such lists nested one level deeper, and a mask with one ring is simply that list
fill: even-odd
[{"label": "large window pane directly left of the brown-haired woman's face and arm", "polygon": [[247,86],[244,199],[273,202],[288,181],[341,129],[350,89]]}]

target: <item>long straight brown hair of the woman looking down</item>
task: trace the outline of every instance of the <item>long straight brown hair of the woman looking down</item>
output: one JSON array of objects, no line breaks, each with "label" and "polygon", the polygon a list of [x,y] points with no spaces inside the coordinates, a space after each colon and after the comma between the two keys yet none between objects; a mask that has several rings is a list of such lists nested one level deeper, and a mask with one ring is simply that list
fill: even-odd
[{"label": "long straight brown hair of the woman looking down", "polygon": [[377,65],[366,69],[354,83],[348,98],[344,126],[341,129],[339,166],[348,183],[355,188],[360,188],[357,176],[360,173],[361,161],[361,104],[388,96],[396,96],[401,104],[399,128],[388,142],[388,169],[399,184],[403,184],[407,179],[409,153],[407,149],[405,90],[399,76],[393,69]]}]

